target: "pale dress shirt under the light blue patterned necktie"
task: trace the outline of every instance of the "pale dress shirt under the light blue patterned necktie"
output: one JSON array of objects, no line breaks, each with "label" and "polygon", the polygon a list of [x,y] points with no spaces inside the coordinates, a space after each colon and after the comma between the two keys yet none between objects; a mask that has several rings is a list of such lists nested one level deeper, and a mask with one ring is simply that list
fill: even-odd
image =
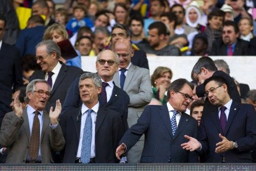
[{"label": "pale dress shirt under the light blue patterned necktie", "polygon": [[[78,144],[78,149],[76,154],[77,158],[81,157],[83,129],[84,129],[84,125],[86,124],[86,117],[88,115],[87,110],[89,110],[89,108],[86,105],[82,104],[80,137],[79,137],[79,144]],[[93,112],[91,113],[91,117],[92,117],[93,130],[92,130],[92,143],[91,143],[91,158],[95,158],[95,125],[96,125],[97,112],[99,110],[99,102],[93,106],[92,110]]]}]

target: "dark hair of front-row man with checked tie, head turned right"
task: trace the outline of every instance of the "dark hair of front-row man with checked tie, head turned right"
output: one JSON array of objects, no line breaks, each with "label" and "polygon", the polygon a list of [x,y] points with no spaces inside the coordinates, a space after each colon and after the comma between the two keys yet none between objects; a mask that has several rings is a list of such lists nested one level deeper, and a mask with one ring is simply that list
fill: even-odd
[{"label": "dark hair of front-row man with checked tie, head turned right", "polygon": [[185,84],[188,84],[188,86],[193,90],[194,89],[194,84],[189,82],[188,80],[184,78],[179,78],[170,83],[170,86],[167,90],[167,99],[170,98],[170,91],[173,90],[175,92],[179,92]]}]

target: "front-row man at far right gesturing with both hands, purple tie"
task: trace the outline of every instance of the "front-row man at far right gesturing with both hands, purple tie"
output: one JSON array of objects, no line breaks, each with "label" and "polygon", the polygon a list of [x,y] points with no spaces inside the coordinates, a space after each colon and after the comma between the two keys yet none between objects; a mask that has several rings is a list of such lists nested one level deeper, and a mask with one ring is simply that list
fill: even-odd
[{"label": "front-row man at far right gesturing with both hands, purple tie", "polygon": [[252,105],[230,98],[228,83],[221,76],[205,80],[205,94],[215,109],[204,113],[198,139],[189,141],[184,149],[205,155],[207,163],[251,163],[251,150],[256,145],[256,115]]}]

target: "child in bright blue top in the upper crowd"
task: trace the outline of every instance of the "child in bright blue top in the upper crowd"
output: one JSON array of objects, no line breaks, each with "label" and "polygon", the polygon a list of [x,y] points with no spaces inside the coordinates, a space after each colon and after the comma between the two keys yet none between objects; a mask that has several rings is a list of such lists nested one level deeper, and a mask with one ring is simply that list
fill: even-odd
[{"label": "child in bright blue top in the upper crowd", "polygon": [[86,14],[86,7],[83,5],[74,7],[74,17],[69,20],[66,26],[66,30],[68,31],[70,37],[82,26],[87,26],[90,28],[93,27],[93,22],[86,17]]}]

